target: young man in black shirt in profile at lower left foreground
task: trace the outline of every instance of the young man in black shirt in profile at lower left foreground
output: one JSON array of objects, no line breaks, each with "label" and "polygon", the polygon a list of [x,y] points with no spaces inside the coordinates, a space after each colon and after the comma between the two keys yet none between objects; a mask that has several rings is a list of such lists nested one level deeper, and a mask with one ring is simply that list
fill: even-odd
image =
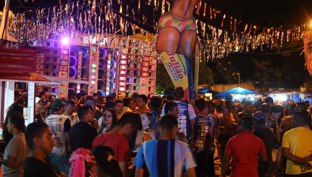
[{"label": "young man in black shirt in profile at lower left foreground", "polygon": [[53,165],[45,159],[46,154],[53,150],[55,141],[52,132],[44,122],[34,122],[27,126],[25,139],[29,149],[26,159],[24,177],[66,177],[65,174],[56,170]]}]

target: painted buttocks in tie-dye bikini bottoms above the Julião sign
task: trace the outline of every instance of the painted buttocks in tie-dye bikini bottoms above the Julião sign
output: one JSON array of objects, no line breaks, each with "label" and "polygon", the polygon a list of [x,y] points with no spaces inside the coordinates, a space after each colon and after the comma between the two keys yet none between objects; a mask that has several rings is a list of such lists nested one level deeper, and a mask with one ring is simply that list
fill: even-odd
[{"label": "painted buttocks in tie-dye bikini bottoms above the Juli\u00e3o sign", "polygon": [[199,0],[173,0],[172,8],[158,20],[156,50],[193,56],[196,24],[193,17]]}]

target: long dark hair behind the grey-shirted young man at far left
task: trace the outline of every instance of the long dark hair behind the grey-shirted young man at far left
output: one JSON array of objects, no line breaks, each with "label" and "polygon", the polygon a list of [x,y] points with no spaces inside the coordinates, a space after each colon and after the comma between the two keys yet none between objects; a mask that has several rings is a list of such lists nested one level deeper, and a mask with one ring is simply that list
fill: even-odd
[{"label": "long dark hair behind the grey-shirted young man at far left", "polygon": [[13,138],[13,135],[7,131],[7,124],[9,121],[9,115],[14,113],[14,112],[20,112],[23,114],[23,109],[24,109],[24,107],[21,104],[14,103],[7,110],[7,116],[5,117],[5,120],[4,120],[3,133],[2,133],[2,137],[3,137],[4,142],[9,142]]}]

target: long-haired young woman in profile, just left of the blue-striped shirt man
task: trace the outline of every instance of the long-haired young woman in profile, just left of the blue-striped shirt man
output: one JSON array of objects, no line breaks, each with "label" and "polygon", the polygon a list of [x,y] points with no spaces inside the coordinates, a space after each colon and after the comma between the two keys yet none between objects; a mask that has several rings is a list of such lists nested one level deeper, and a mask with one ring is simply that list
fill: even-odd
[{"label": "long-haired young woman in profile, just left of the blue-striped shirt man", "polygon": [[141,121],[142,121],[142,130],[147,132],[152,139],[155,139],[155,130],[154,130],[154,117],[151,112],[141,112]]}]

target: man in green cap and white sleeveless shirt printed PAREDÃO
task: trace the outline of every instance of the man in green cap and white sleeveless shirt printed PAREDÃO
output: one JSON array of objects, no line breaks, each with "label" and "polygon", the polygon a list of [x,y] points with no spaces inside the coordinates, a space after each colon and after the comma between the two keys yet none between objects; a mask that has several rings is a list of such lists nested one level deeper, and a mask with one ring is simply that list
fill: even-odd
[{"label": "man in green cap and white sleeveless shirt printed PARED\u00c3O", "polygon": [[53,151],[49,153],[51,163],[64,174],[68,174],[68,131],[71,128],[71,121],[68,117],[63,116],[64,105],[62,99],[57,98],[52,103],[53,113],[46,117],[46,124],[49,126],[52,137],[55,140]]}]

